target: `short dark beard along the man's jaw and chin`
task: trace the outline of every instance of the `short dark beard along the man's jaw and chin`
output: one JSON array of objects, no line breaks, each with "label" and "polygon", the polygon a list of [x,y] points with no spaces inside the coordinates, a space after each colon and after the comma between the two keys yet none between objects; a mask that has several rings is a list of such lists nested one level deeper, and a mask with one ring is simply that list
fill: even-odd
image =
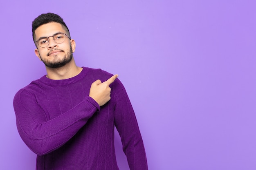
[{"label": "short dark beard along the man's jaw and chin", "polygon": [[[54,49],[56,50],[56,49]],[[40,54],[39,54],[40,55]],[[43,60],[42,57],[40,56],[42,62],[45,64],[45,66],[49,68],[60,68],[62,66],[65,66],[67,63],[69,63],[72,58],[73,58],[73,53],[72,53],[72,47],[70,46],[70,50],[67,52],[67,55],[65,55],[62,59],[54,59],[54,61],[47,61]]]}]

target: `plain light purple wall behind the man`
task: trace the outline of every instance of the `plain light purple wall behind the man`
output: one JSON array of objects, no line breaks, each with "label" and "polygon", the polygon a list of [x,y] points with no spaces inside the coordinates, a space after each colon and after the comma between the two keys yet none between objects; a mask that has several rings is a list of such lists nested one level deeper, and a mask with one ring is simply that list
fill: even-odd
[{"label": "plain light purple wall behind the man", "polygon": [[[256,169],[254,0],[9,0],[0,2],[0,169],[33,170],[13,96],[45,75],[31,22],[61,15],[78,66],[118,73],[150,170]],[[128,170],[116,134],[120,170]]]}]

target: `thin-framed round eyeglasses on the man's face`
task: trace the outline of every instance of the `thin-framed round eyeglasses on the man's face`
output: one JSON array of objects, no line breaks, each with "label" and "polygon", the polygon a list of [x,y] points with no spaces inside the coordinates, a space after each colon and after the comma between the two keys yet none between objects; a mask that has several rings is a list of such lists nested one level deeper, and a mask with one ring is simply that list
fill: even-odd
[{"label": "thin-framed round eyeglasses on the man's face", "polygon": [[[49,37],[52,37],[53,40],[58,43],[58,44],[61,44],[65,41],[65,37],[67,36],[67,34],[65,33],[55,33],[54,35],[52,36],[49,36]],[[38,38],[38,40],[36,41],[36,43],[42,47],[42,48],[45,48],[49,45],[49,37],[40,37]],[[67,36],[68,37],[68,36]],[[69,38],[69,37],[68,37]],[[70,38],[69,38],[70,39]],[[71,40],[71,39],[70,39]]]}]

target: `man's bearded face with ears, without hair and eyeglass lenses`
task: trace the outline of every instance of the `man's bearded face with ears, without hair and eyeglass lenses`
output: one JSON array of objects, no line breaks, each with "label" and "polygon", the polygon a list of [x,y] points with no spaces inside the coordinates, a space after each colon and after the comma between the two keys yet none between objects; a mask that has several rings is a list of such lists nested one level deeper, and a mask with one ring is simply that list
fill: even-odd
[{"label": "man's bearded face with ears, without hair and eyeglass lenses", "polygon": [[[39,26],[36,31],[36,40],[42,37],[49,37],[56,33],[65,33],[62,25],[57,22],[50,22]],[[45,48],[38,46],[35,49],[36,56],[43,61],[45,66],[49,68],[58,68],[64,66],[72,60],[72,53],[75,50],[74,40],[70,40],[65,35],[63,43],[58,44],[54,41],[53,37],[49,37],[49,45]]]}]

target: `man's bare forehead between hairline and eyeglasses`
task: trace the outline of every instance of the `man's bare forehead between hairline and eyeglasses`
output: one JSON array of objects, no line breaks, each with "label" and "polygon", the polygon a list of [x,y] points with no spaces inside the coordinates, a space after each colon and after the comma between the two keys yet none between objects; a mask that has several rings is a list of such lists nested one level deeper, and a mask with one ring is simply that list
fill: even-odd
[{"label": "man's bare forehead between hairline and eyeglasses", "polygon": [[38,39],[40,37],[52,36],[53,34],[58,32],[66,33],[65,29],[63,29],[63,26],[60,23],[50,22],[50,23],[39,26],[35,30],[35,35],[36,35],[36,39]]}]

